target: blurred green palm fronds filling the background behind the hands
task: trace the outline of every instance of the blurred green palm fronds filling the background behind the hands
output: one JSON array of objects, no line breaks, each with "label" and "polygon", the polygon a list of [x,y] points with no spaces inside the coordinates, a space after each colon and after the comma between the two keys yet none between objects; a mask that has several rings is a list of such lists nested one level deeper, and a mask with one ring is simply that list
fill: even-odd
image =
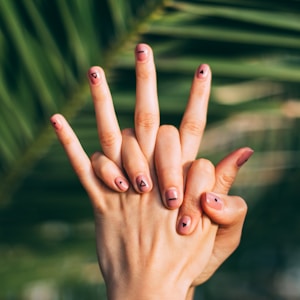
[{"label": "blurred green palm fronds filling the background behind the hands", "polygon": [[232,190],[249,205],[241,246],[196,297],[299,299],[299,20],[297,0],[0,0],[0,299],[105,298],[92,211],[48,120],[61,112],[99,149],[85,74],[101,65],[131,126],[138,42],[155,53],[162,123],[179,124],[206,62],[200,155],[256,152]]}]

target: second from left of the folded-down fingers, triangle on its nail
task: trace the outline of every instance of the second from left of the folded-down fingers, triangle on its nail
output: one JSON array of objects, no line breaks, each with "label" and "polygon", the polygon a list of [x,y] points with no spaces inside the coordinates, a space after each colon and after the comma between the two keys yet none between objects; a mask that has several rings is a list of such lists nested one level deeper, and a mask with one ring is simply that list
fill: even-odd
[{"label": "second from left of the folded-down fingers, triangle on its nail", "polygon": [[132,129],[122,130],[122,163],[134,189],[146,193],[152,189],[149,164]]}]

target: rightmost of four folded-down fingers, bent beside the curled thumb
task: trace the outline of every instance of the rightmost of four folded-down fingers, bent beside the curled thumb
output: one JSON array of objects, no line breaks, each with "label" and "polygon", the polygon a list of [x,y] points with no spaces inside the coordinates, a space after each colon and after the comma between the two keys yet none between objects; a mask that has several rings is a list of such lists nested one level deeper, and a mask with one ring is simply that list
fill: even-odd
[{"label": "rightmost of four folded-down fingers, bent beside the curled thumb", "polygon": [[203,217],[200,205],[202,193],[211,191],[215,184],[215,168],[207,159],[194,161],[187,174],[183,204],[180,207],[177,232],[188,235]]}]

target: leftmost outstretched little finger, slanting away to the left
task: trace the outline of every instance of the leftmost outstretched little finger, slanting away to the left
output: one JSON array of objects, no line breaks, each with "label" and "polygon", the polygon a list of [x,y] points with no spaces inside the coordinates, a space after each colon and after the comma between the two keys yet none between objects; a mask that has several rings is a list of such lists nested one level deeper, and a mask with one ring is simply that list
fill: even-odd
[{"label": "leftmost outstretched little finger, slanting away to the left", "polygon": [[91,200],[99,206],[99,181],[96,178],[90,159],[83,150],[76,134],[62,115],[55,114],[50,119],[70,163]]}]

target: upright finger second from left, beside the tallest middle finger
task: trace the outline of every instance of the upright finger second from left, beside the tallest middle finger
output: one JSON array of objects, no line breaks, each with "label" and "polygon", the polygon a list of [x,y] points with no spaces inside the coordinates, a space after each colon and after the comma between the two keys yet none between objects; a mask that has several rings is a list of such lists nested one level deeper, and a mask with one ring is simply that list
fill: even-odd
[{"label": "upright finger second from left, beside the tallest middle finger", "polygon": [[103,69],[91,67],[88,78],[102,151],[109,159],[121,166],[121,131]]}]

